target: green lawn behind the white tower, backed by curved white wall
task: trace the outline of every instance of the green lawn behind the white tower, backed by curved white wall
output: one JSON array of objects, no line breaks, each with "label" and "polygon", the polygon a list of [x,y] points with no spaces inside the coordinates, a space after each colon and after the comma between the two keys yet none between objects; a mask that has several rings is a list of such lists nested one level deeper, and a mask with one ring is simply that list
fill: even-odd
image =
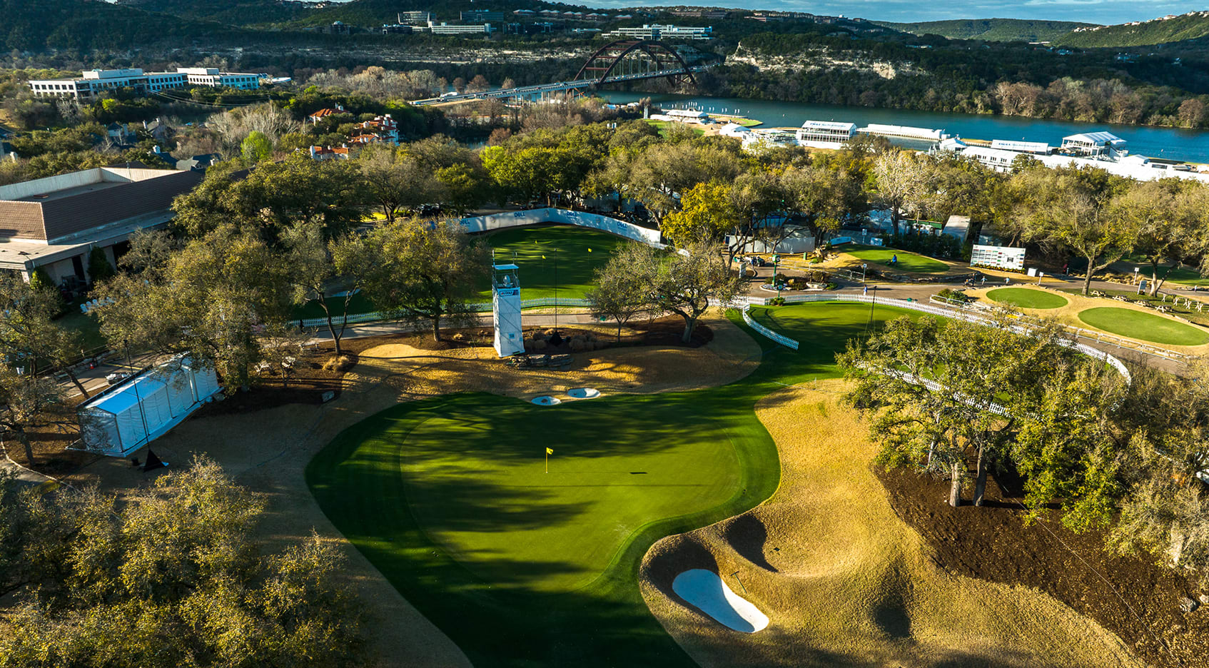
[{"label": "green lawn behind the white tower, backed by curved white wall", "polygon": [[[596,268],[608,262],[613,251],[631,243],[607,232],[572,225],[514,227],[485,237],[496,249],[496,262],[520,267],[521,298],[553,297],[555,249],[560,297],[583,297],[594,285]],[[491,281],[479,284],[480,298],[491,301]]]}]

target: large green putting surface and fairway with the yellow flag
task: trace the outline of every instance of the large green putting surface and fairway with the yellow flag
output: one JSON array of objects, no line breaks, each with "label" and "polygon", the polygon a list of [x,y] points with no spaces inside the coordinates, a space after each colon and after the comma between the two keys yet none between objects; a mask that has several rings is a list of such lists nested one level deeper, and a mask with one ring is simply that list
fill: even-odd
[{"label": "large green putting surface and fairway with the yellow flag", "polygon": [[[475,666],[695,666],[642,600],[642,556],[773,494],[780,460],[756,401],[837,376],[834,353],[869,320],[864,304],[757,310],[802,350],[753,335],[763,364],[737,383],[557,407],[487,394],[400,403],[337,436],[307,482]],[[879,307],[875,320],[901,313]]]}]

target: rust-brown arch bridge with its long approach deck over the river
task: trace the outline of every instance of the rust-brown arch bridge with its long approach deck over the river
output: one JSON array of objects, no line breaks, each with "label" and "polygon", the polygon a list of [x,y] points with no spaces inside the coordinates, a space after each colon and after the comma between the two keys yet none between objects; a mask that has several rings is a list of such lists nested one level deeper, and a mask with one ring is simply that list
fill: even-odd
[{"label": "rust-brown arch bridge with its long approach deck over the river", "polygon": [[457,93],[415,100],[411,104],[445,104],[485,99],[540,99],[550,94],[595,88],[607,83],[666,79],[675,85],[696,85],[694,72],[711,65],[689,66],[670,45],[658,40],[618,40],[596,50],[574,79],[497,91]]}]

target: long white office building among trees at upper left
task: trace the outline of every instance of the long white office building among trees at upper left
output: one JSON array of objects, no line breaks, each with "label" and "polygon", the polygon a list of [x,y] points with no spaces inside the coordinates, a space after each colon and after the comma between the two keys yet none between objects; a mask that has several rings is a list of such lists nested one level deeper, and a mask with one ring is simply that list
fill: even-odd
[{"label": "long white office building among trees at upper left", "polygon": [[79,79],[30,80],[29,88],[42,98],[71,98],[94,101],[118,88],[132,88],[147,94],[185,86],[214,88],[260,88],[262,74],[220,72],[218,68],[177,68],[174,72],[144,72],[140,68],[125,70],[87,70]]}]

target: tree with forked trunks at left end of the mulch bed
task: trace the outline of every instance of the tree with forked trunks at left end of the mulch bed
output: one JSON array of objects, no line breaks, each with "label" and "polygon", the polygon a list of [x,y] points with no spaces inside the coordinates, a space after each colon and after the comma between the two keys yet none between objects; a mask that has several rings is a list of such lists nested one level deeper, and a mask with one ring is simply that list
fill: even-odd
[{"label": "tree with forked trunks at left end of the mulch bed", "polygon": [[1032,408],[1040,383],[1071,358],[1057,325],[1024,335],[1006,314],[996,318],[991,326],[898,318],[837,355],[856,382],[848,401],[873,416],[879,461],[949,477],[953,506],[961,503],[971,453],[974,505],[982,505],[990,466],[1019,461],[1012,443],[1031,418],[1017,406]]}]

